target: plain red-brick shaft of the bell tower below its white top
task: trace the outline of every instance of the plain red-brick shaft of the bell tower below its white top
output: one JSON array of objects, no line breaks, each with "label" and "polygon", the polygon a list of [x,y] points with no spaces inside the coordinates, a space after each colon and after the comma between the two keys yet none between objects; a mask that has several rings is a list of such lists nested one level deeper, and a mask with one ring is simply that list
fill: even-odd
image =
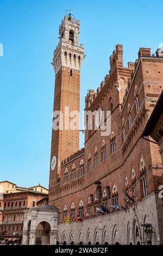
[{"label": "plain red-brick shaft of the bell tower below its white top", "polygon": [[[80,91],[80,72],[61,68],[55,78],[55,96],[54,111],[65,113],[65,106],[72,110],[79,111],[79,91]],[[65,126],[65,122],[64,122]],[[78,130],[60,130],[52,132],[51,160],[53,156],[57,157],[57,164],[79,150],[79,131]],[[55,180],[60,175],[60,167],[57,166],[54,171],[50,171],[49,189],[55,185]]]}]

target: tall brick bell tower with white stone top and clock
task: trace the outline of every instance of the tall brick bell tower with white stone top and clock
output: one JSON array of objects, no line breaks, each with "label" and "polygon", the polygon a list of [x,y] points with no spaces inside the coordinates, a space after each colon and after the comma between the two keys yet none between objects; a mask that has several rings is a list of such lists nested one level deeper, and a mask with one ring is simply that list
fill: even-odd
[{"label": "tall brick bell tower with white stone top and clock", "polygon": [[[65,107],[70,112],[79,111],[80,67],[84,58],[84,45],[78,45],[79,28],[80,21],[72,14],[66,15],[59,27],[59,44],[54,51],[54,111],[61,111],[64,118]],[[65,122],[63,124],[63,130],[52,130],[49,190],[53,190],[60,177],[61,161],[79,150],[79,130],[65,129]]]}]

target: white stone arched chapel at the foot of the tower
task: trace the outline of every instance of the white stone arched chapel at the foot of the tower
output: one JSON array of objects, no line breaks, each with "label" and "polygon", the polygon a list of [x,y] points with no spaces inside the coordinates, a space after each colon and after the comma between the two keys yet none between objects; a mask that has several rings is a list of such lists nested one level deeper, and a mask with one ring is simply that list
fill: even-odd
[{"label": "white stone arched chapel at the foot of the tower", "polygon": [[57,207],[42,205],[25,211],[22,245],[37,245],[38,240],[40,245],[57,245],[57,234]]}]

